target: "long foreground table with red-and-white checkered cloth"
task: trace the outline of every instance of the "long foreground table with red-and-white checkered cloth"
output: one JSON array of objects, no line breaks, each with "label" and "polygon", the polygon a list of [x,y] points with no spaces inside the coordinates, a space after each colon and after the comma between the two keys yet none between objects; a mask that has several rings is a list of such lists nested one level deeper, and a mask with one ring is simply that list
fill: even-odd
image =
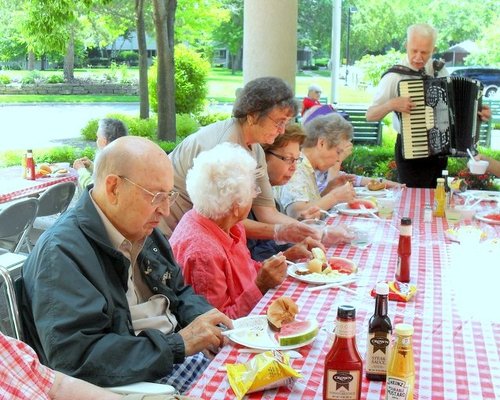
[{"label": "long foreground table with red-and-white checkered cloth", "polygon": [[[361,249],[337,245],[328,256],[353,260],[359,268],[355,293],[325,289],[310,291],[309,284],[289,276],[282,285],[270,290],[251,315],[266,313],[269,304],[280,296],[290,296],[299,307],[299,318],[316,318],[320,331],[313,343],[297,349],[303,356],[292,361],[302,378],[288,388],[256,392],[245,399],[321,399],[326,353],[331,347],[337,307],[351,304],[356,308],[356,336],[364,358],[368,320],[373,314],[370,295],[376,282],[394,280],[397,265],[399,218],[413,221],[411,282],[416,296],[409,302],[389,302],[388,315],[393,326],[404,322],[415,328],[415,399],[498,399],[500,398],[500,313],[495,306],[495,285],[500,278],[500,225],[473,224],[488,232],[491,240],[478,244],[451,242],[445,218],[423,221],[424,205],[433,202],[430,189],[405,189],[392,220],[372,219],[372,243]],[[498,210],[493,201],[484,201],[485,210]],[[359,223],[357,216],[339,215],[330,224]],[[364,218],[364,222],[368,219]],[[462,224],[462,223],[460,223]],[[461,226],[461,225],[459,225]],[[496,244],[495,244],[496,240]],[[205,370],[189,395],[202,399],[234,399],[226,363],[248,361],[254,354],[239,353],[240,345],[224,346]],[[383,399],[385,383],[362,381],[362,399]]]}]

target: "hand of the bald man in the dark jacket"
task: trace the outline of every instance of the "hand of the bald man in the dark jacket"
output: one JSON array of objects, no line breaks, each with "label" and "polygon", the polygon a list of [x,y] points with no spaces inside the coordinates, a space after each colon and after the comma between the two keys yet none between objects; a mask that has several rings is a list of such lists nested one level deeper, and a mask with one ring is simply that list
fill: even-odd
[{"label": "hand of the bald man in the dark jacket", "polygon": [[224,345],[224,336],[222,336],[222,330],[217,326],[218,324],[223,324],[229,329],[233,328],[231,319],[214,308],[181,329],[179,335],[184,340],[186,356],[200,351],[207,354],[207,350],[209,353],[216,353]]}]

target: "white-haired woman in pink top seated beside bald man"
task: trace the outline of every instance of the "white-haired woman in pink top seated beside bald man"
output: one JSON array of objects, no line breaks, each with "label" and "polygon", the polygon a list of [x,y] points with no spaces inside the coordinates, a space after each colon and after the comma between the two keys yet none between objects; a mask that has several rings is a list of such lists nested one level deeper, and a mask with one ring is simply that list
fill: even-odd
[{"label": "white-haired woman in pink top seated beside bald man", "polygon": [[231,318],[246,316],[286,277],[283,255],[260,263],[247,248],[241,221],[258,194],[257,171],[242,146],[227,142],[200,153],[186,178],[193,209],[169,240],[186,282]]}]

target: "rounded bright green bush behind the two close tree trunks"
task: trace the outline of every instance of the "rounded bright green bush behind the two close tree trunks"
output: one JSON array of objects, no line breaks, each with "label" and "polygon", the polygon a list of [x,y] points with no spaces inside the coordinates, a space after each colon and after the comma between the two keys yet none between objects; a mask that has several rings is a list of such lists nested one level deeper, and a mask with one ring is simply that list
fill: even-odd
[{"label": "rounded bright green bush behind the two close tree trunks", "polygon": [[[210,64],[184,45],[175,46],[175,110],[179,114],[201,111],[208,93],[207,79]],[[151,109],[158,111],[157,64],[148,73],[149,101]]]}]

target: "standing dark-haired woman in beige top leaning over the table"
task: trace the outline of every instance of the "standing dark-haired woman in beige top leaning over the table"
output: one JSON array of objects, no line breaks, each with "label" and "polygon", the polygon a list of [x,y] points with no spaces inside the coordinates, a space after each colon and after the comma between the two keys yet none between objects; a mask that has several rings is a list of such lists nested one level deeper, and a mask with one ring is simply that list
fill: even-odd
[{"label": "standing dark-haired woman in beige top leaning over the table", "polygon": [[172,205],[170,215],[165,219],[166,224],[162,224],[165,234],[169,236],[181,217],[192,208],[186,190],[186,175],[193,166],[193,159],[219,143],[231,142],[245,149],[257,162],[257,185],[261,193],[254,199],[252,210],[260,222],[244,221],[247,236],[284,242],[300,242],[307,236],[317,237],[314,229],[298,224],[276,210],[265,155],[260,146],[273,143],[296,114],[293,91],[283,80],[258,78],[242,89],[233,107],[233,118],[203,127],[184,139],[170,154],[174,166],[174,189],[179,192],[179,198]]}]

